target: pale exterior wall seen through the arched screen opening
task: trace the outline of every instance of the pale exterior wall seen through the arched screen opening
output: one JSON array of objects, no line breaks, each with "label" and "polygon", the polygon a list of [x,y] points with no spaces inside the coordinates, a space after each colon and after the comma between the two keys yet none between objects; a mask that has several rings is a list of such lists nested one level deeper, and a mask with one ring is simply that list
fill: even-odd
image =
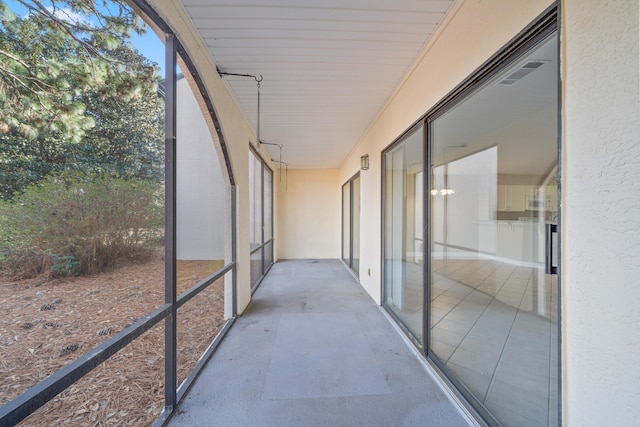
[{"label": "pale exterior wall seen through the arched screen opening", "polygon": [[224,161],[186,79],[178,80],[177,92],[177,259],[225,260]]}]

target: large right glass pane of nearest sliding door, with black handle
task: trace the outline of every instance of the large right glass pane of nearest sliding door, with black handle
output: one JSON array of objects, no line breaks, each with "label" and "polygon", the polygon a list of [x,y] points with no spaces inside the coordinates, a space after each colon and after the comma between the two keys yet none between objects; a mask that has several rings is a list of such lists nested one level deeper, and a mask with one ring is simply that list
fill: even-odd
[{"label": "large right glass pane of nearest sliding door, with black handle", "polygon": [[556,57],[553,36],[430,127],[430,354],[505,425],[558,423]]}]

